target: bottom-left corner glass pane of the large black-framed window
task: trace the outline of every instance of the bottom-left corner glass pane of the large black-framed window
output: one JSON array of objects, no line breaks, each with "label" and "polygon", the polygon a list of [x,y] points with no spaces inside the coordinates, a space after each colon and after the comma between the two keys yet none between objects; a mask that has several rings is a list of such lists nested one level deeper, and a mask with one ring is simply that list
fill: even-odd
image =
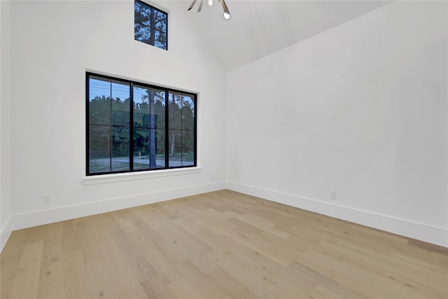
[{"label": "bottom-left corner glass pane of the large black-framed window", "polygon": [[111,171],[111,127],[89,126],[89,173]]}]

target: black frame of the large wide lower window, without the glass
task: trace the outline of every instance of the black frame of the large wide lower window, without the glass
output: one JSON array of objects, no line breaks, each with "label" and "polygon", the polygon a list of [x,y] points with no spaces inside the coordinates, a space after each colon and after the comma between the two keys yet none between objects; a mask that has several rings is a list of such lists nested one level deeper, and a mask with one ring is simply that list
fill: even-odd
[{"label": "black frame of the large wide lower window, without the glass", "polygon": [[[94,172],[90,173],[90,78],[104,78],[108,81],[119,81],[120,83],[127,83],[130,86],[130,123],[129,123],[129,140],[130,140],[130,153],[129,153],[129,159],[130,159],[130,166],[129,170],[118,170],[118,171],[110,171],[110,172]],[[153,90],[163,90],[165,92],[165,167],[158,167],[158,168],[145,168],[145,169],[134,169],[134,98],[133,98],[133,90],[134,85],[138,85],[139,87],[144,88],[151,88]],[[193,159],[193,165],[181,165],[181,166],[169,166],[169,95],[172,93],[180,93],[183,95],[188,95],[192,100],[194,104],[194,128],[193,128],[193,142],[194,142],[194,159]],[[197,167],[197,93],[185,91],[185,90],[179,90],[175,88],[167,88],[163,86],[153,85],[150,83],[144,83],[141,81],[134,81],[130,79],[125,78],[119,78],[115,76],[109,76],[109,75],[103,75],[103,74],[97,74],[91,71],[85,72],[85,175],[87,177],[91,176],[104,176],[108,174],[132,174],[137,172],[154,172],[154,171],[164,171],[167,169],[186,169],[186,168],[192,168]],[[111,104],[112,105],[112,104]],[[111,127],[113,127],[113,123],[111,120]],[[175,129],[173,129],[175,130]],[[112,162],[112,155],[110,156],[111,162]],[[112,165],[112,164],[111,164]]]}]

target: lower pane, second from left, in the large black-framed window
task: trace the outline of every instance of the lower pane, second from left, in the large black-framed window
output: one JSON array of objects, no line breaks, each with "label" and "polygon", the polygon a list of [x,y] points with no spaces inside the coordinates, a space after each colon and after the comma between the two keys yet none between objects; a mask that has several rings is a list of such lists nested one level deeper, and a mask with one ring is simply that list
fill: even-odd
[{"label": "lower pane, second from left, in the large black-framed window", "polygon": [[129,127],[112,127],[112,171],[130,170]]}]

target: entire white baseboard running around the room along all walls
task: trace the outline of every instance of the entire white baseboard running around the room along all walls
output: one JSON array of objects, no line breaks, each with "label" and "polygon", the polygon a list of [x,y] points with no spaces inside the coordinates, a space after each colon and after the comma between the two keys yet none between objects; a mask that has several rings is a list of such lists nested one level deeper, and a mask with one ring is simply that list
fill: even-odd
[{"label": "entire white baseboard running around the room along all walls", "polygon": [[255,186],[247,186],[235,182],[219,181],[198,186],[188,186],[170,190],[162,190],[153,193],[144,193],[131,195],[129,197],[111,198],[98,202],[87,202],[85,204],[74,204],[71,206],[57,207],[55,209],[45,209],[40,211],[31,211],[28,213],[14,214],[8,218],[0,232],[0,252],[3,250],[8,238],[13,230],[29,228],[36,225],[43,225],[57,221],[64,221],[73,218],[90,216],[94,214],[116,211],[137,207],[144,204],[163,202],[173,200],[179,197],[197,195],[200,193],[213,192],[228,188],[240,193],[253,195],[287,204],[291,207],[314,211],[319,214],[332,216],[361,225],[367,225],[371,228],[385,230],[397,235],[419,239],[424,242],[448,247],[448,230],[438,228],[424,223],[416,223],[405,219],[394,218],[387,215],[375,214],[370,211],[353,209],[328,202],[321,202],[306,197],[281,193],[274,190],[267,190]]}]

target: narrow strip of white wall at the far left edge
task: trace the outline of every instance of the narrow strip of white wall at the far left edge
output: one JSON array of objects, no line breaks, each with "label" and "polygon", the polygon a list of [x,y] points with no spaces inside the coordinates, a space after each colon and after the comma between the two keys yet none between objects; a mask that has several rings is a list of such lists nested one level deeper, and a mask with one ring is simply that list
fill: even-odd
[{"label": "narrow strip of white wall at the far left edge", "polygon": [[10,1],[0,1],[0,250],[10,219]]}]

